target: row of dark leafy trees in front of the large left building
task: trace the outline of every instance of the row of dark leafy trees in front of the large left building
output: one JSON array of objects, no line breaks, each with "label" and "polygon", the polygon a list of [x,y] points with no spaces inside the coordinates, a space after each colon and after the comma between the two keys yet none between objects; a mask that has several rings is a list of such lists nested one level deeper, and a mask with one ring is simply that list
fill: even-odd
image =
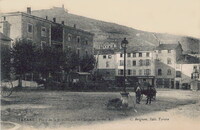
[{"label": "row of dark leafy trees in front of the large left building", "polygon": [[[63,51],[52,46],[43,49],[25,39],[16,40],[11,49],[3,49],[1,52],[1,67],[6,74],[13,68],[21,79],[27,73],[39,73],[43,78],[50,74],[80,69],[89,72],[94,68],[94,56],[86,55],[79,58],[75,51],[68,49]],[[3,72],[3,71],[2,71]]]}]

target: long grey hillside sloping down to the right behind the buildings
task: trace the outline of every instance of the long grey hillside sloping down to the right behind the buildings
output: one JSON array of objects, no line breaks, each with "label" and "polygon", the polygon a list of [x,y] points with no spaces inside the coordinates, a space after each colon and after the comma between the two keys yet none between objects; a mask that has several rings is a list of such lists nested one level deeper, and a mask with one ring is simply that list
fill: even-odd
[{"label": "long grey hillside sloping down to the right behind the buildings", "polygon": [[[77,28],[95,34],[95,46],[104,42],[108,42],[110,39],[112,39],[112,42],[120,44],[124,37],[128,39],[130,46],[156,46],[159,43],[158,40],[153,36],[152,32],[140,31],[115,23],[109,23],[78,16],[75,14],[70,14],[61,7],[33,10],[32,15],[42,18],[46,18],[46,16],[48,16],[49,20],[52,20],[53,17],[55,17],[57,23],[64,21],[65,25],[68,26],[73,26],[76,24]],[[198,52],[199,50],[200,39],[187,36],[170,35],[165,33],[155,34],[158,39],[160,39],[161,43],[171,44],[178,43],[179,41],[182,44],[183,50],[187,53]]]}]

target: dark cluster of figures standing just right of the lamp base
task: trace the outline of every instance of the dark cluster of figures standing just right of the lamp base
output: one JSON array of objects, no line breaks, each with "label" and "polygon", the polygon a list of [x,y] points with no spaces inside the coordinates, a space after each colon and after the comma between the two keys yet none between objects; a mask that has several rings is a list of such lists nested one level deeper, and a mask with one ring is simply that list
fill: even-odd
[{"label": "dark cluster of figures standing just right of the lamp base", "polygon": [[[154,90],[153,87],[146,81],[144,81],[142,84],[136,83],[137,87],[135,90],[136,93],[136,103],[140,104],[141,101],[141,95],[144,94],[147,96],[146,104],[151,104],[152,98],[154,96]],[[143,86],[143,87],[142,87]],[[145,90],[143,88],[146,88]]]}]

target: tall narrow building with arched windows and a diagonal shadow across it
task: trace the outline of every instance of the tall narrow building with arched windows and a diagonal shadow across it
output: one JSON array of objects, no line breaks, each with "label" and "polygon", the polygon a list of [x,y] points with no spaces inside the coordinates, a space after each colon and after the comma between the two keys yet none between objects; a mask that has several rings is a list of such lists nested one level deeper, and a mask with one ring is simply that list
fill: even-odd
[{"label": "tall narrow building with arched windows and a diagonal shadow across it", "polygon": [[161,88],[175,88],[177,60],[182,55],[181,44],[160,44],[155,49],[156,86]]}]

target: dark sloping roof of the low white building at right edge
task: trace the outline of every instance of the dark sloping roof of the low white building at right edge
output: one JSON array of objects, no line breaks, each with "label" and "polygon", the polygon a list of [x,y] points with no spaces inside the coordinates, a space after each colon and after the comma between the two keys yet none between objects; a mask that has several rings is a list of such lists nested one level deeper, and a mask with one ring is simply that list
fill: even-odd
[{"label": "dark sloping roof of the low white building at right edge", "polygon": [[188,54],[182,55],[178,60],[178,64],[197,64],[200,63],[200,59],[195,56],[191,56]]}]

